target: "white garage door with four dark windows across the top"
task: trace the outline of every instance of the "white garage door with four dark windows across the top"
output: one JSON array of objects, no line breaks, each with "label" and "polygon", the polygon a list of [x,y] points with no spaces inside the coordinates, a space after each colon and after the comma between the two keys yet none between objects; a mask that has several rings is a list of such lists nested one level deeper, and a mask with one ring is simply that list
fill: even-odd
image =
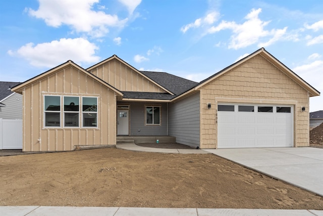
[{"label": "white garage door with four dark windows across the top", "polygon": [[218,148],[293,146],[293,106],[219,104]]}]

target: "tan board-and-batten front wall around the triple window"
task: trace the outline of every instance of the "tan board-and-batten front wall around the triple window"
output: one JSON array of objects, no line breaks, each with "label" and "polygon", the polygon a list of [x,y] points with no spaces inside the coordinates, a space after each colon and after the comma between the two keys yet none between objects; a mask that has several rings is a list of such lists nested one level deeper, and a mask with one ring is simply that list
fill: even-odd
[{"label": "tan board-and-batten front wall around the triple window", "polygon": [[[26,85],[23,92],[23,151],[71,151],[80,145],[116,144],[116,93],[78,68],[68,65]],[[98,127],[64,128],[62,112],[62,127],[44,127],[44,95],[61,96],[61,100],[63,96],[97,97]],[[79,115],[82,118],[81,112]]]}]

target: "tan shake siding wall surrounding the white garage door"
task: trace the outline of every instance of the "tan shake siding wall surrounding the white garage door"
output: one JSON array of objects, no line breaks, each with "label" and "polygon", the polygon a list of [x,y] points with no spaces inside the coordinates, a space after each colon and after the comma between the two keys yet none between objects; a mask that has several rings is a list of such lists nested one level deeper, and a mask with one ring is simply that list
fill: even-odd
[{"label": "tan shake siding wall surrounding the white garage door", "polygon": [[[290,101],[288,103],[295,104],[294,145],[309,145],[307,91],[260,55],[205,84],[200,91],[201,148],[217,147],[216,98],[237,99],[231,101],[236,103],[241,99],[254,99],[255,103],[272,100],[278,104]],[[206,108],[207,103],[212,104],[211,109]],[[306,107],[306,112],[301,112],[302,106]]]}]

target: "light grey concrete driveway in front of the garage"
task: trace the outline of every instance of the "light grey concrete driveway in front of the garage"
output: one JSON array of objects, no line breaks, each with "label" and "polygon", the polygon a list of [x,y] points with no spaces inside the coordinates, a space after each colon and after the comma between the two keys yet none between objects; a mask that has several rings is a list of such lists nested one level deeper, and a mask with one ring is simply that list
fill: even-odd
[{"label": "light grey concrete driveway in front of the garage", "polygon": [[323,149],[204,149],[220,157],[323,196]]}]

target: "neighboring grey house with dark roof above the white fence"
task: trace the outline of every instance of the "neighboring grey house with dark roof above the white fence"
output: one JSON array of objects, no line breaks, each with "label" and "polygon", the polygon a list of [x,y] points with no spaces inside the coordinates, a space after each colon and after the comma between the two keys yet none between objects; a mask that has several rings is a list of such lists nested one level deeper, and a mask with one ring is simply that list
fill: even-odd
[{"label": "neighboring grey house with dark roof above the white fence", "polygon": [[18,84],[0,81],[0,118],[22,119],[22,95],[11,91]]}]

